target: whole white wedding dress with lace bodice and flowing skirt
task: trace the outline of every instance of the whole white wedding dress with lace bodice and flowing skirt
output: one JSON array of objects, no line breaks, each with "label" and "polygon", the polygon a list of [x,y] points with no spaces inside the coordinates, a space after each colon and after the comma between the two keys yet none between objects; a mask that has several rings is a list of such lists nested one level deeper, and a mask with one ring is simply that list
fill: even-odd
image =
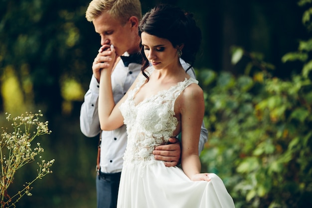
[{"label": "whole white wedding dress with lace bodice and flowing skirt", "polygon": [[[152,74],[154,68],[147,71]],[[118,194],[118,208],[235,208],[222,180],[191,181],[178,167],[165,167],[154,159],[154,148],[168,141],[177,125],[174,101],[190,84],[190,78],[135,105],[135,93],[146,78],[129,92],[120,106],[127,125],[128,144]]]}]

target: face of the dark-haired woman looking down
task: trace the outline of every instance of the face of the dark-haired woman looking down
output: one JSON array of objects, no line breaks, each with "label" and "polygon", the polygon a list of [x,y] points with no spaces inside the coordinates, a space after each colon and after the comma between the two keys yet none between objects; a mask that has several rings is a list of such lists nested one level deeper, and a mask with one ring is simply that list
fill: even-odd
[{"label": "face of the dark-haired woman looking down", "polygon": [[172,68],[179,63],[177,49],[169,40],[146,32],[142,32],[141,38],[145,56],[155,69]]}]

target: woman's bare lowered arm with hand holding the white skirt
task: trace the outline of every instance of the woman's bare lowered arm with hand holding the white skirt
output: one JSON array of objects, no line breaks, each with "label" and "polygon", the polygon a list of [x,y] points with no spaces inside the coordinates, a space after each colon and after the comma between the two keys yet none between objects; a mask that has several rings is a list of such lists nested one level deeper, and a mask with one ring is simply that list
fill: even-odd
[{"label": "woman's bare lowered arm with hand holding the white skirt", "polygon": [[202,89],[192,84],[181,94],[181,166],[192,181],[210,181],[208,174],[200,174],[201,164],[198,156],[200,128],[204,116],[204,97]]}]

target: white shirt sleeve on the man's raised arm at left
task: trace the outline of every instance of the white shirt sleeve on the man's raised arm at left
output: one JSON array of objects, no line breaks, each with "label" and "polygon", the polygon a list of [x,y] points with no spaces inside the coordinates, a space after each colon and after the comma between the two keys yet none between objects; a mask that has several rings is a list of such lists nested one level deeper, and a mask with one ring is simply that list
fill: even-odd
[{"label": "white shirt sleeve on the man's raised arm at left", "polygon": [[99,83],[92,75],[89,90],[84,96],[80,109],[80,130],[87,137],[95,137],[101,132],[98,114]]}]

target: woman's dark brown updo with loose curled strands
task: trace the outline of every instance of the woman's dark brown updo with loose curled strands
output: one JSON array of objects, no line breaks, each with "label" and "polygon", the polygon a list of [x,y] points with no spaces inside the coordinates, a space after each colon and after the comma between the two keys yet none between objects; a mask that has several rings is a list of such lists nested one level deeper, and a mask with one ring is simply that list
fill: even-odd
[{"label": "woman's dark brown updo with loose curled strands", "polygon": [[[165,38],[172,43],[173,47],[184,44],[181,58],[190,64],[187,70],[193,66],[200,46],[201,31],[191,13],[169,4],[159,4],[143,16],[139,24],[139,34],[141,35],[142,32]],[[143,47],[141,53],[143,56],[141,70],[149,80],[144,70],[150,63],[144,55]]]}]

